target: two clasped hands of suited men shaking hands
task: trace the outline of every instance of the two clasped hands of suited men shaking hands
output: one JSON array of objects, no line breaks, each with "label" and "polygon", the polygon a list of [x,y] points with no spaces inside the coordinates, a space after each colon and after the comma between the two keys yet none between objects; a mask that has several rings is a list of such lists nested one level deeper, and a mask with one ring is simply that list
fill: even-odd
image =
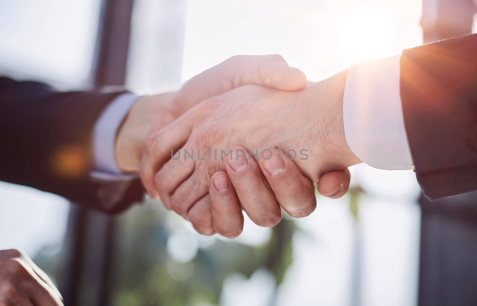
[{"label": "two clasped hands of suited men shaking hands", "polygon": [[279,55],[234,56],[179,91],[140,98],[117,133],[124,172],[139,172],[151,198],[204,235],[238,236],[242,209],[274,226],[346,193],[348,147],[342,101],[346,71],[307,82]]}]

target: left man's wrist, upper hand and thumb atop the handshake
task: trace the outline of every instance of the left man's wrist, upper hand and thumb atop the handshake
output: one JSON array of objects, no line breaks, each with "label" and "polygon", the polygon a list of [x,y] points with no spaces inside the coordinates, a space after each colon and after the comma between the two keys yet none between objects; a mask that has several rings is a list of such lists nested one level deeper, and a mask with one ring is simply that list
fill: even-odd
[{"label": "left man's wrist, upper hand and thumb atop the handshake", "polygon": [[203,100],[246,84],[296,91],[306,83],[305,74],[280,55],[233,56],[198,74],[178,92],[145,96],[136,102],[118,132],[118,166],[124,172],[139,171],[147,136]]}]

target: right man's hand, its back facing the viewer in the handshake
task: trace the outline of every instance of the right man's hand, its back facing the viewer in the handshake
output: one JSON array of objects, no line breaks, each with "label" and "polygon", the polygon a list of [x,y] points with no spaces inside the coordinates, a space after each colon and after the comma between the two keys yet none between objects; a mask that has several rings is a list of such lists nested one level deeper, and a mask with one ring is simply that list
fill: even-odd
[{"label": "right man's hand, its back facing the viewer in the handshake", "polygon": [[187,217],[188,209],[208,193],[212,174],[225,170],[225,162],[197,158],[166,162],[170,148],[195,149],[196,154],[199,149],[201,156],[207,155],[203,146],[220,150],[237,143],[259,152],[275,147],[296,152],[307,149],[309,159],[297,158],[294,162],[311,182],[318,182],[324,173],[360,163],[343,132],[346,72],[310,83],[297,92],[247,85],[200,103],[148,139],[142,162],[143,183],[149,193],[160,194],[166,206]]}]

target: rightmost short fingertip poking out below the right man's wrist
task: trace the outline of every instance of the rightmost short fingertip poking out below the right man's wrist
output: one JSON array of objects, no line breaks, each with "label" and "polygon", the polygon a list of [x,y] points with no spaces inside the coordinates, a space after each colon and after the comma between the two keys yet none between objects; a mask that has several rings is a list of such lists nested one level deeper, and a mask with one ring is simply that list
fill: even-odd
[{"label": "rightmost short fingertip poking out below the right man's wrist", "polygon": [[325,173],[318,180],[318,192],[328,198],[341,198],[350,187],[350,179],[351,174],[348,169]]}]

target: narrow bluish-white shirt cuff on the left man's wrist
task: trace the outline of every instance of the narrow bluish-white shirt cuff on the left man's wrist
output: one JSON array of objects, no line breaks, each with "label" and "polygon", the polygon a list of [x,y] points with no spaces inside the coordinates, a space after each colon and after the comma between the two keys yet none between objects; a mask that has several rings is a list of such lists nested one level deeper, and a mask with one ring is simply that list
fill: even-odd
[{"label": "narrow bluish-white shirt cuff on the left man's wrist", "polygon": [[93,130],[92,178],[107,181],[133,180],[137,174],[123,173],[116,163],[116,133],[133,104],[139,99],[133,93],[124,93],[114,99],[99,117]]}]

